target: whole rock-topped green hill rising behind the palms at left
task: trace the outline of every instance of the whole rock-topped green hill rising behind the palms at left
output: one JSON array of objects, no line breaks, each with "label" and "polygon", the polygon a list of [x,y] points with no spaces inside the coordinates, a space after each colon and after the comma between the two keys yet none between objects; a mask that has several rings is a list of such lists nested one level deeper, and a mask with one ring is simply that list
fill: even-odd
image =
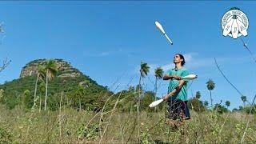
[{"label": "whole rock-topped green hill rising behind the palms at left", "polygon": [[[22,68],[20,78],[0,85],[0,90],[2,90],[3,94],[2,98],[0,98],[0,103],[9,108],[22,105],[26,92],[26,94],[29,94],[26,98],[29,98],[27,101],[30,104],[29,107],[31,107],[34,102],[38,66],[46,61],[46,59],[37,59],[27,63]],[[106,86],[98,85],[89,76],[82,74],[78,69],[71,66],[69,62],[65,62],[62,59],[54,59],[54,61],[57,63],[58,73],[57,77],[52,78],[47,86],[50,110],[58,109],[57,104],[62,99],[62,95],[66,99],[65,105],[76,108],[78,103],[81,102],[80,104],[84,110],[98,110],[102,106],[104,95],[112,94],[107,90]],[[38,80],[37,86],[36,95],[43,100],[46,93],[46,78]],[[79,90],[82,90],[82,92],[79,92]],[[38,102],[37,105],[39,105]]]}]

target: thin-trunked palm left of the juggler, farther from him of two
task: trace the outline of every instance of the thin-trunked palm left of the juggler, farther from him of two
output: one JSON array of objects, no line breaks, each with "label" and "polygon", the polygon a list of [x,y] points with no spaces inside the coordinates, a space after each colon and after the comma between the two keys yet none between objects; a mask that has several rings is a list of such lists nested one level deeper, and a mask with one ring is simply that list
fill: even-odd
[{"label": "thin-trunked palm left of the juggler, farther from him of two", "polygon": [[141,62],[141,69],[140,71],[140,77],[138,82],[138,102],[137,102],[137,114],[138,114],[138,142],[140,142],[140,122],[139,122],[139,106],[140,106],[140,100],[141,100],[141,81],[142,78],[145,78],[146,75],[150,71],[150,66],[147,65],[145,62]]}]

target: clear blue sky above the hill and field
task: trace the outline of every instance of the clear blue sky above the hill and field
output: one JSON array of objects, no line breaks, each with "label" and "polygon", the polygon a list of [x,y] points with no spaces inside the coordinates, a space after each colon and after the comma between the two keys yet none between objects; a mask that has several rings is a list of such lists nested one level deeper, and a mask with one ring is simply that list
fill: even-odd
[{"label": "clear blue sky above the hill and field", "polygon": [[[214,65],[252,101],[256,94],[256,63],[240,40],[222,36],[221,18],[238,7],[249,18],[248,36],[243,38],[255,54],[256,2],[0,2],[4,34],[0,60],[10,66],[0,82],[19,77],[22,66],[38,58],[62,58],[102,86],[114,90],[138,84],[140,62],[151,69],[143,79],[146,90],[154,90],[154,69],[171,68],[173,55],[184,54],[185,67],[198,74],[188,90],[210,102],[206,82],[212,78],[214,103],[230,100],[230,108],[242,105],[240,95]],[[154,26],[162,26],[173,46]],[[114,82],[116,82],[114,84]],[[168,82],[161,81],[158,96],[166,94]]]}]

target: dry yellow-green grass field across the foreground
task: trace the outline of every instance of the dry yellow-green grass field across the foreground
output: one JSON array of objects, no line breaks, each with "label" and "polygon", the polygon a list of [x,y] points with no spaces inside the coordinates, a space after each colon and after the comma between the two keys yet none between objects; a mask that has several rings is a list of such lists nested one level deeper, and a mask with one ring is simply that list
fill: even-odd
[{"label": "dry yellow-green grass field across the foreground", "polygon": [[165,124],[164,111],[107,114],[66,109],[25,111],[0,106],[0,142],[18,143],[239,143],[256,142],[255,115],[191,111],[192,119],[178,129]]}]

